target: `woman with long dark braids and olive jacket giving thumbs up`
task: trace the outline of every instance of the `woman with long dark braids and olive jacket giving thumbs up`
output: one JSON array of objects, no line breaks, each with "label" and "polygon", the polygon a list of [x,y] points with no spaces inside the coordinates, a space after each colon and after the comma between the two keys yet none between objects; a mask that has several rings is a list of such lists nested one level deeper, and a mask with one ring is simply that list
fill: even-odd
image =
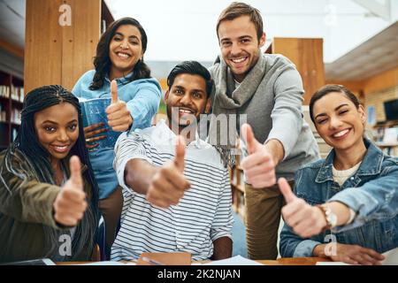
[{"label": "woman with long dark braids and olive jacket giving thumbs up", "polygon": [[0,262],[90,260],[97,203],[78,99],[61,86],[35,88],[0,154]]}]

